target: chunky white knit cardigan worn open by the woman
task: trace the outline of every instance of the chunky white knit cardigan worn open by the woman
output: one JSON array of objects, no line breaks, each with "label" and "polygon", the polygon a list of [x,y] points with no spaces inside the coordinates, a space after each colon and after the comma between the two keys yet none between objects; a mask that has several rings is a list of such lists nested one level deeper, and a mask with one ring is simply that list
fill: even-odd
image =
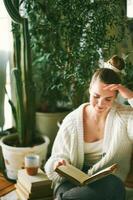
[{"label": "chunky white knit cardigan worn open by the woman", "polygon": [[[132,104],[133,101],[130,101]],[[51,157],[45,164],[48,177],[57,186],[64,178],[53,170],[55,161],[65,159],[82,169],[84,163],[83,108],[82,104],[63,120],[54,141]],[[132,104],[133,105],[133,104]],[[133,108],[115,103],[110,110],[103,138],[103,158],[97,162],[88,174],[93,174],[113,163],[118,163],[116,176],[125,180],[130,168],[133,143]]]}]

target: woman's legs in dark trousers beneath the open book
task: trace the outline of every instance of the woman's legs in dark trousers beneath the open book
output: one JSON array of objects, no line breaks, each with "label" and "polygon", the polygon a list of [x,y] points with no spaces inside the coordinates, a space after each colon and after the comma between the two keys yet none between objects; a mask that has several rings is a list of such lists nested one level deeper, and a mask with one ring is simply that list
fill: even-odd
[{"label": "woman's legs in dark trousers beneath the open book", "polygon": [[77,187],[65,183],[59,187],[58,200],[124,200],[125,188],[122,181],[114,175],[107,176],[88,186]]}]

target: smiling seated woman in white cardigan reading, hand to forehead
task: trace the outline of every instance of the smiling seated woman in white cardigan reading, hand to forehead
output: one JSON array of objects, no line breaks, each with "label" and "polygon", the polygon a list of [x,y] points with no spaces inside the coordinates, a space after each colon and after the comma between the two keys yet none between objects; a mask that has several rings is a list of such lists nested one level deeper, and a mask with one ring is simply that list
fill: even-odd
[{"label": "smiling seated woman in white cardigan reading, hand to forehead", "polygon": [[[124,200],[124,180],[130,168],[133,109],[116,103],[120,93],[133,105],[133,92],[121,85],[114,69],[101,68],[92,77],[89,103],[64,120],[45,165],[57,200]],[[86,186],[76,186],[54,170],[71,163],[91,175],[114,163],[115,174]]]}]

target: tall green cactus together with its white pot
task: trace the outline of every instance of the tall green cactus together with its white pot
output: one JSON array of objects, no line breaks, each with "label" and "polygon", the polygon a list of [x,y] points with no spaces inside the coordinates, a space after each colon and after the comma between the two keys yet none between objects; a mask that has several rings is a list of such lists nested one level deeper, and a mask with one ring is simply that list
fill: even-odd
[{"label": "tall green cactus together with its white pot", "polygon": [[[16,86],[16,105],[11,105],[16,134],[1,139],[7,176],[17,178],[18,169],[24,167],[24,156],[28,153],[37,153],[41,161],[46,159],[49,140],[42,138],[36,131],[35,123],[35,91],[32,80],[32,65],[30,55],[30,37],[28,20],[19,14],[18,0],[4,0],[13,22],[14,36],[14,67],[12,74]],[[14,155],[15,154],[15,155]]]}]

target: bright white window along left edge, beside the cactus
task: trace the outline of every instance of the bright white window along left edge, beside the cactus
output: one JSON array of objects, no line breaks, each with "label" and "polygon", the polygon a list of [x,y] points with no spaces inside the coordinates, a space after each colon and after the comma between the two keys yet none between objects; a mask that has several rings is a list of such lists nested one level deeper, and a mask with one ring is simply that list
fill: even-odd
[{"label": "bright white window along left edge, beside the cactus", "polygon": [[12,52],[11,20],[4,3],[0,0],[0,129],[11,128],[11,108],[4,87],[11,96],[10,55]]}]

